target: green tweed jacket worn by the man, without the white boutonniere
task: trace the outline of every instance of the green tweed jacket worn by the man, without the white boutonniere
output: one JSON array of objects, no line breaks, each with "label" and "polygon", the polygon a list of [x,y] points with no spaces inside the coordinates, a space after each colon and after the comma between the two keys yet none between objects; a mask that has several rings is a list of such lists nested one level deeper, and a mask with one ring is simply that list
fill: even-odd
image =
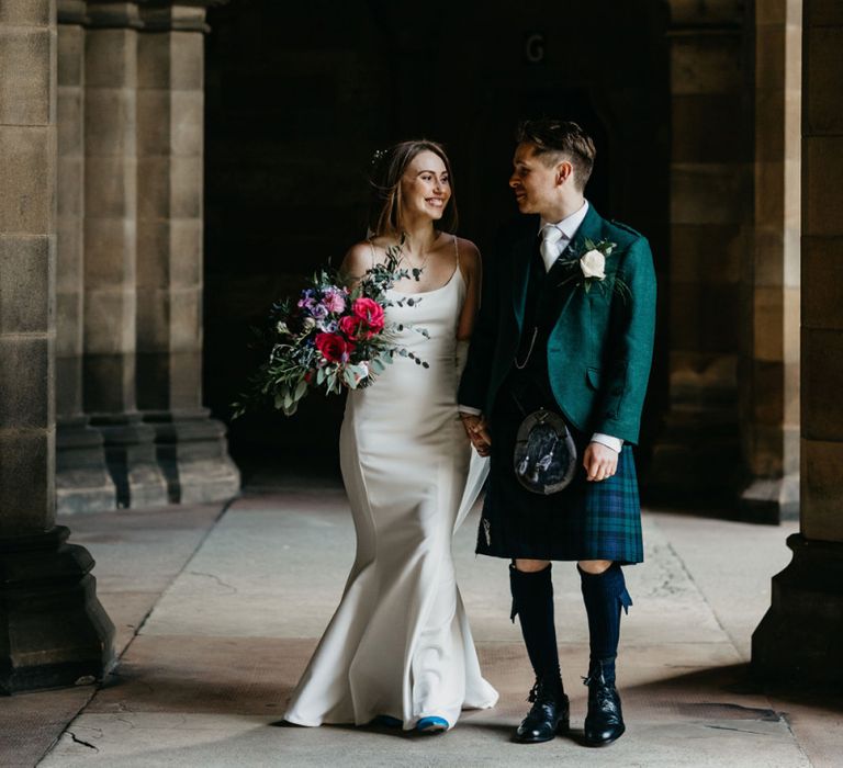
[{"label": "green tweed jacket worn by the man, without the white boutonniere", "polygon": [[[518,348],[538,230],[537,216],[519,217],[502,229],[491,258],[483,260],[482,302],[460,382],[460,405],[492,413]],[[586,239],[617,244],[606,259],[605,280],[592,283],[587,292],[576,263],[587,250]],[[544,350],[557,404],[580,431],[636,443],[655,326],[650,245],[634,229],[604,219],[589,206],[560,258],[572,260],[573,276],[557,289],[564,292],[562,308]]]}]

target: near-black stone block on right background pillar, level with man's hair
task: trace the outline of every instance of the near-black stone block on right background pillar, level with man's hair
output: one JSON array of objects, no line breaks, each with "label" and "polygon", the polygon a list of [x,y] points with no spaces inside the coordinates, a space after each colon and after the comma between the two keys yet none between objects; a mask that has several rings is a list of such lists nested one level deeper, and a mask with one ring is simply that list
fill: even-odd
[{"label": "near-black stone block on right background pillar, level with man's hair", "polygon": [[693,93],[671,100],[671,158],[674,162],[735,162],[752,158],[749,132],[740,121],[743,102],[734,93]]}]

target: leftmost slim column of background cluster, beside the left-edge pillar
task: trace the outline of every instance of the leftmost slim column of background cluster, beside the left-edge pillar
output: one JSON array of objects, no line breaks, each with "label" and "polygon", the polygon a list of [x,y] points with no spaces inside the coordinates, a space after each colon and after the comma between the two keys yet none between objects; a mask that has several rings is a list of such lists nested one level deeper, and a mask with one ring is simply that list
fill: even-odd
[{"label": "leftmost slim column of background cluster, beside the left-edge pillar", "polygon": [[82,413],[85,2],[58,0],[56,497],[61,512],[117,506],[102,434]]}]

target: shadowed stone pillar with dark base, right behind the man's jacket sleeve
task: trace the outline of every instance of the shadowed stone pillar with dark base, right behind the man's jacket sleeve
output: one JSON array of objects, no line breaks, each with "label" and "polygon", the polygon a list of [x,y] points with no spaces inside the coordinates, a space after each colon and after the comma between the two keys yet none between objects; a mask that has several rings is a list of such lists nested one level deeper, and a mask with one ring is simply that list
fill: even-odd
[{"label": "shadowed stone pillar with dark base, right behind the man's jacket sleeve", "polygon": [[752,248],[752,24],[739,0],[671,1],[670,409],[650,498],[734,505],[738,362]]}]

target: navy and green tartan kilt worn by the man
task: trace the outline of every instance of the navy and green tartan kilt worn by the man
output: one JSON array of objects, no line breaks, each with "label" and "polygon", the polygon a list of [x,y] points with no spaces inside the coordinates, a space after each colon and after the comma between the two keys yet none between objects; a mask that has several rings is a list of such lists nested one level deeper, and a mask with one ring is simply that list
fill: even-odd
[{"label": "navy and green tartan kilt worn by the man", "polygon": [[[532,402],[530,402],[532,399]],[[540,398],[546,400],[546,398]],[[547,402],[520,398],[524,410],[539,406],[559,413]],[[504,384],[490,419],[492,453],[483,512],[477,529],[477,554],[529,560],[610,560],[621,564],[644,560],[641,504],[632,449],[625,444],[618,468],[605,481],[586,481],[583,452],[591,434],[569,423],[577,448],[577,470],[571,484],[542,496],[516,479],[513,451],[524,410]]]}]

